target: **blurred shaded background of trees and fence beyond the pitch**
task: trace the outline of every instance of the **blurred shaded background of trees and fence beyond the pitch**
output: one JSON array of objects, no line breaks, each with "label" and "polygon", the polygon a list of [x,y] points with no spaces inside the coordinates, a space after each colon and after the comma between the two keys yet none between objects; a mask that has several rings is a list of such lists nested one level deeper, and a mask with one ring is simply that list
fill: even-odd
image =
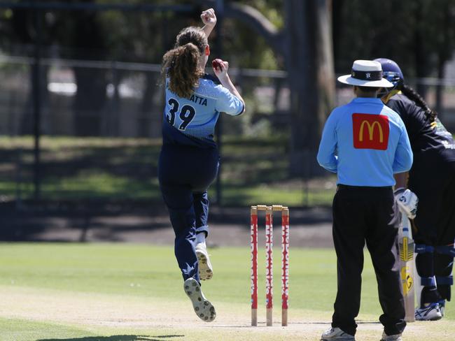
[{"label": "blurred shaded background of trees and fence beyond the pitch", "polygon": [[218,124],[215,224],[248,228],[256,203],[290,205],[298,226],[320,209],[330,224],[335,177],[314,156],[325,117],[352,97],[335,79],[354,59],[395,59],[455,131],[454,1],[0,1],[0,238],[169,226],[160,61],[208,7],[211,58],[230,62],[248,107]]}]

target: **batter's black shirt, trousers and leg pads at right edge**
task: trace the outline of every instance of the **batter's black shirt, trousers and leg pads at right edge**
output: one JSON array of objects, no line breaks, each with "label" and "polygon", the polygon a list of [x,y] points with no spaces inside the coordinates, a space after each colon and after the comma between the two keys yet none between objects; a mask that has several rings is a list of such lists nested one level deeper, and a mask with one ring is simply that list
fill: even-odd
[{"label": "batter's black shirt, trousers and leg pads at right edge", "polygon": [[408,187],[419,198],[412,225],[416,268],[424,287],[421,304],[450,300],[455,254],[455,141],[439,119],[431,122],[425,110],[401,92],[386,100],[386,105],[405,123],[414,153]]}]

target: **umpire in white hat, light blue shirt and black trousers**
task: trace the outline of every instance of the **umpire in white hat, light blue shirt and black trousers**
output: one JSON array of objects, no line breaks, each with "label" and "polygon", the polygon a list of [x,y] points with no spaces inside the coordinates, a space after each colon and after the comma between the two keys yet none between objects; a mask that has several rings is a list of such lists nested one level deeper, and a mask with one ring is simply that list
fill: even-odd
[{"label": "umpire in white hat, light blue shirt and black trousers", "polygon": [[394,173],[409,170],[412,150],[400,116],[377,99],[382,78],[377,61],[356,60],[351,75],[339,82],[353,85],[356,96],[335,108],[325,122],[318,163],[337,173],[333,198],[333,241],[337,253],[337,298],[332,328],[321,340],[355,340],[360,309],[363,247],[370,251],[384,314],[381,340],[402,340],[405,307],[398,266],[398,206]]}]

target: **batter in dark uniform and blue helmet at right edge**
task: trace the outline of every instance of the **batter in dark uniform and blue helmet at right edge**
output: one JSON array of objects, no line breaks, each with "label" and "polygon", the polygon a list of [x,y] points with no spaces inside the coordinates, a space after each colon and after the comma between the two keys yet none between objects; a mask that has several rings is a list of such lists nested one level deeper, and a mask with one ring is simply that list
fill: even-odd
[{"label": "batter in dark uniform and blue helmet at right edge", "polygon": [[[437,113],[405,84],[398,64],[386,58],[376,60],[382,65],[384,78],[393,83],[382,101],[405,122],[414,152],[409,173],[396,177],[395,195],[401,198],[399,205],[405,203],[405,210],[406,203],[410,203],[408,217],[414,218],[416,269],[421,284],[416,285],[421,290],[416,290],[419,306],[415,318],[437,320],[444,315],[454,282],[451,272],[455,256],[455,141]],[[416,209],[412,203],[417,198]]]}]

